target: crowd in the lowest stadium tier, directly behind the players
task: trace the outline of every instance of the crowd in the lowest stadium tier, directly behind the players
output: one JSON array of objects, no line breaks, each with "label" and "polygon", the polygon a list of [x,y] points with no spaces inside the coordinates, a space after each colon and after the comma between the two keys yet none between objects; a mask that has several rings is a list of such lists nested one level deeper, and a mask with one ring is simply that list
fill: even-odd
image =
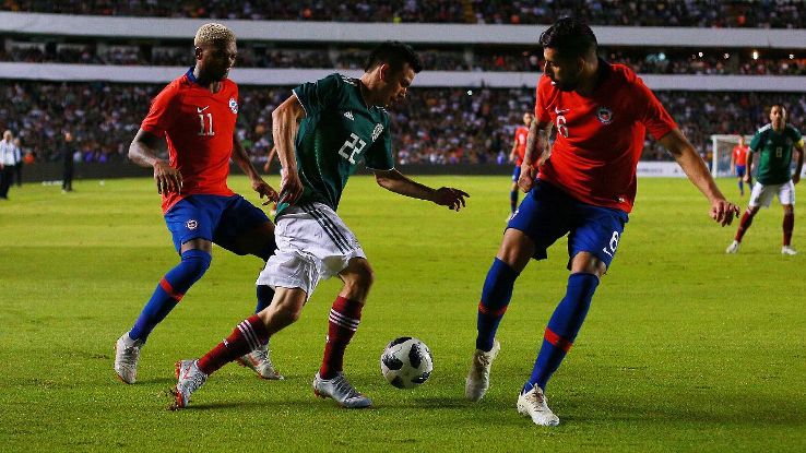
[{"label": "crowd in the lowest stadium tier, directly behind the players", "polygon": [[[14,82],[0,86],[0,130],[22,141],[29,160],[57,159],[63,131],[75,136],[76,162],[125,162],[129,143],[161,85]],[[240,90],[238,136],[254,160],[271,148],[271,112],[288,87]],[[768,122],[764,108],[789,106],[803,129],[806,95],[775,93],[657,92],[698,150],[710,134],[751,133]],[[400,164],[505,163],[512,132],[534,103],[533,88],[416,88],[391,109],[393,148]],[[669,157],[648,140],[644,159]]]}]

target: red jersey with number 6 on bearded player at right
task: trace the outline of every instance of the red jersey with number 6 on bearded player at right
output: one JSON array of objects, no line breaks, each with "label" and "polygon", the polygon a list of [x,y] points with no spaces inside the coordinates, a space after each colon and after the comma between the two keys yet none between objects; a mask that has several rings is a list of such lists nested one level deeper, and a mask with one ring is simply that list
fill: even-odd
[{"label": "red jersey with number 6 on bearded player at right", "polygon": [[583,203],[629,213],[645,130],[661,139],[677,124],[632,70],[602,60],[600,69],[590,97],[561,92],[545,74],[540,79],[535,118],[557,129],[540,178]]}]

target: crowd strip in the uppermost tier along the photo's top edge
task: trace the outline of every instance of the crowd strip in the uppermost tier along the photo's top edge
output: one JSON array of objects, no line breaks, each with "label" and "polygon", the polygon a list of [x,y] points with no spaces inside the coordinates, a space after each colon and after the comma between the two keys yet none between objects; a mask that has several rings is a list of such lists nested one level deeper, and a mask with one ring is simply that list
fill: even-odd
[{"label": "crowd strip in the uppermost tier along the photo's top edge", "polygon": [[[592,17],[591,25],[806,28],[802,0],[4,0],[7,11],[335,22],[549,24]],[[179,7],[179,8],[177,8]]]}]

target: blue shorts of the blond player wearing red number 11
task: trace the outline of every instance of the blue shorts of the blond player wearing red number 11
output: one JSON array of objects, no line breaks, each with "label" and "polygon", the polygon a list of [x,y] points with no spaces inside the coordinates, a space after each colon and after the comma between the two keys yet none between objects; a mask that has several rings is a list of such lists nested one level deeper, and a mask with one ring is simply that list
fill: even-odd
[{"label": "blue shorts of the blond player wearing red number 11", "polygon": [[233,253],[247,254],[238,249],[236,239],[266,222],[270,222],[269,217],[261,208],[237,194],[190,195],[165,213],[165,223],[177,252],[182,243],[202,238]]}]

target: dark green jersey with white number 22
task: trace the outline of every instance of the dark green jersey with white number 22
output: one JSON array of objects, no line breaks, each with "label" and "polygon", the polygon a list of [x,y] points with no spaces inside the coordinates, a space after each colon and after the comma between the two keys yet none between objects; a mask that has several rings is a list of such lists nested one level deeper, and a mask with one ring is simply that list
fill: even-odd
[{"label": "dark green jersey with white number 22", "polygon": [[[296,204],[319,202],[335,211],[361,160],[375,170],[394,168],[389,114],[364,103],[357,79],[333,73],[297,86],[294,94],[306,114],[295,143],[305,189]],[[277,206],[277,217],[287,206]]]}]

